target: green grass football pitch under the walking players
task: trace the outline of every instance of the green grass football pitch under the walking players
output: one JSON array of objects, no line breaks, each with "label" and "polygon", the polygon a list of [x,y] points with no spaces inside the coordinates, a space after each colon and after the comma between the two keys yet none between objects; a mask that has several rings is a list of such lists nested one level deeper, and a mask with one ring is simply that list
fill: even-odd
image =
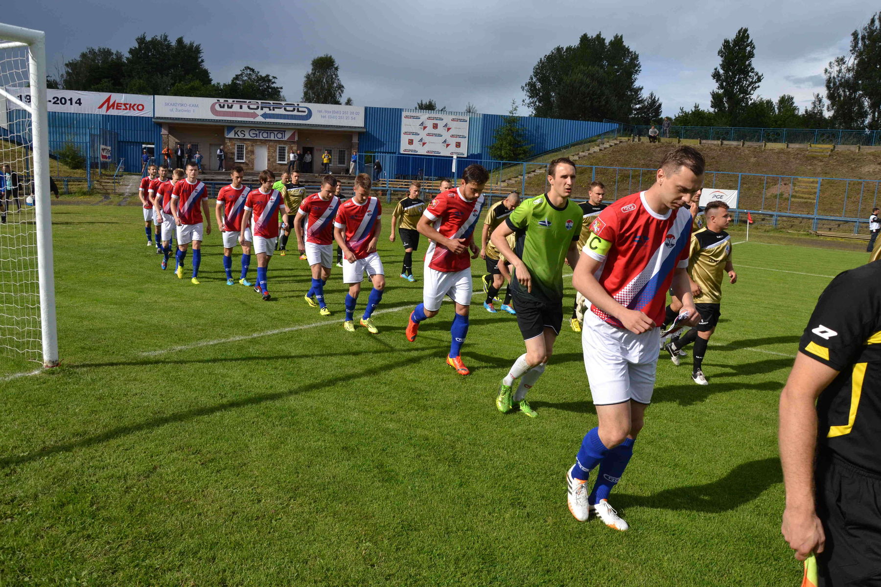
[{"label": "green grass football pitch under the walking players", "polygon": [[33,363],[0,363],[0,584],[800,578],[780,536],[777,399],[818,294],[862,253],[734,247],[740,279],[723,288],[710,385],[692,384],[690,357],[661,361],[611,496],[632,526],[619,533],[566,509],[566,467],[596,425],[579,335],[564,325],[529,395],[539,417],[500,415],[499,379],[523,352],[515,319],[475,296],[468,378],[443,360],[451,305],[407,342],[422,269],[415,283],[397,276],[388,221],[371,335],[344,332],[336,267],[324,318],[302,300],[296,255],[272,259],[265,303],[226,286],[216,232],[195,286],[159,270],[140,209],[56,206],[53,218],[62,366],[9,378]]}]

